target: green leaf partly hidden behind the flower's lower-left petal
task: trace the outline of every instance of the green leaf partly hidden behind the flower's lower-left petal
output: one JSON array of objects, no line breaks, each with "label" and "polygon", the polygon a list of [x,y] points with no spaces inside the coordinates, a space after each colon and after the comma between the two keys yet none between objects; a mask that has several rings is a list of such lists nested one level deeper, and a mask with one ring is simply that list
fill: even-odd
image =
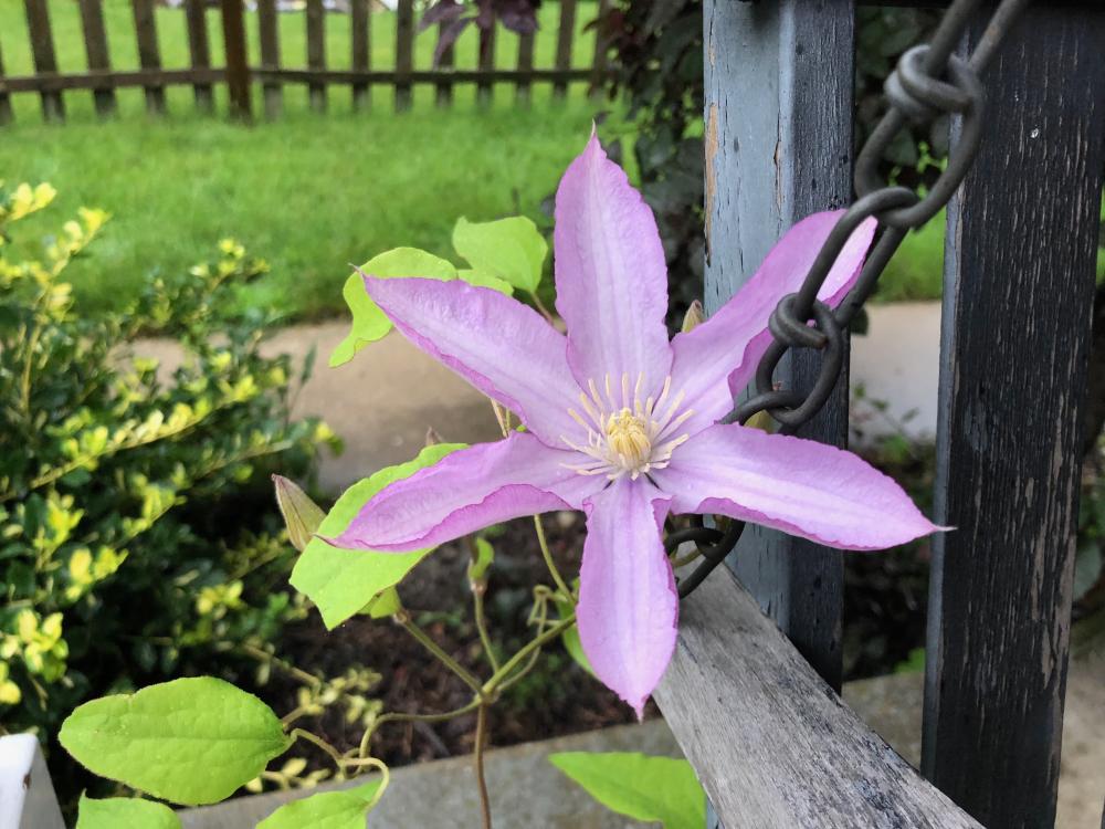
[{"label": "green leaf partly hidden behind the flower's lower-left petal", "polygon": [[[410,478],[420,469],[431,466],[450,452],[463,448],[463,443],[435,443],[419,452],[413,461],[388,466],[354,484],[327,514],[318,534],[330,537],[340,535],[360,508],[385,486]],[[315,602],[326,627],[334,629],[360,612],[377,595],[398,585],[431,549],[375,553],[339,549],[322,538],[313,538],[296,562],[291,581],[295,589]]]}]

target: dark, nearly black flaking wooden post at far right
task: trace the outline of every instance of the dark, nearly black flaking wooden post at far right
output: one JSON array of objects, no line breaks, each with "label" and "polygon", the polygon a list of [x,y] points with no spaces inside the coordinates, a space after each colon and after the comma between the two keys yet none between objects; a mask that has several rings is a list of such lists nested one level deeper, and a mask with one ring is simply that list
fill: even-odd
[{"label": "dark, nearly black flaking wooden post at far right", "polygon": [[1030,7],[948,209],[923,768],[993,827],[1055,818],[1103,53],[1105,13]]}]

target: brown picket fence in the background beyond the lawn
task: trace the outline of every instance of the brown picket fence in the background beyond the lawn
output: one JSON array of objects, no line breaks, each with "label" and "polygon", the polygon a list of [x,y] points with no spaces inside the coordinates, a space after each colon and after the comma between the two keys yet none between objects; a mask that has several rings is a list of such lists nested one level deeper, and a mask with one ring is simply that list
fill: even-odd
[{"label": "brown picket fence in the background beyond the lawn", "polygon": [[[19,0],[4,0],[18,2]],[[557,97],[566,95],[569,84],[588,83],[597,87],[608,73],[607,46],[596,36],[594,52],[585,66],[573,63],[573,45],[578,29],[579,3],[577,0],[559,0],[559,21],[556,39],[555,61],[550,66],[534,63],[534,34],[517,36],[517,61],[513,67],[495,65],[495,39],[503,30],[480,30],[478,59],[474,70],[455,69],[454,46],[446,49],[438,65],[432,69],[414,67],[415,10],[414,0],[399,0],[396,12],[373,12],[372,0],[350,0],[350,40],[341,44],[349,50],[349,69],[332,69],[327,65],[328,49],[324,0],[306,0],[306,65],[288,67],[283,65],[280,42],[277,0],[256,0],[257,32],[261,61],[250,65],[248,48],[248,13],[243,0],[220,0],[220,22],[224,43],[223,64],[213,65],[208,33],[208,0],[185,0],[183,13],[187,19],[188,50],[191,65],[187,69],[165,69],[158,44],[155,18],[156,0],[130,0],[133,4],[134,32],[138,45],[139,69],[112,69],[108,40],[104,25],[104,0],[75,0],[80,6],[81,25],[84,34],[87,71],[80,73],[59,71],[54,48],[54,35],[50,22],[48,0],[22,0],[27,14],[28,34],[34,73],[23,76],[7,76],[3,53],[0,51],[0,125],[13,118],[11,95],[36,93],[42,101],[42,113],[48,120],[65,118],[66,91],[87,90],[92,92],[96,112],[112,115],[116,111],[116,90],[141,87],[145,92],[146,108],[160,115],[166,109],[165,90],[172,85],[190,85],[194,90],[196,106],[202,112],[214,108],[213,87],[227,84],[231,114],[250,118],[253,115],[253,87],[261,86],[264,113],[269,118],[281,114],[283,87],[286,84],[304,84],[308,90],[311,106],[325,111],[327,92],[330,86],[350,90],[354,108],[362,108],[369,101],[369,90],[373,85],[390,86],[394,90],[394,107],[406,109],[411,105],[412,87],[415,84],[432,84],[439,105],[449,105],[456,84],[475,84],[476,98],[481,103],[491,99],[493,84],[509,83],[515,87],[519,103],[527,103],[534,84],[549,83]],[[599,13],[610,0],[599,0],[591,4]],[[65,0],[72,4],[74,0]],[[375,67],[370,49],[372,20],[378,13],[396,14],[396,61],[394,66]],[[0,49],[3,45],[0,32]],[[433,35],[430,35],[433,36]],[[439,29],[440,36],[440,29]]]}]

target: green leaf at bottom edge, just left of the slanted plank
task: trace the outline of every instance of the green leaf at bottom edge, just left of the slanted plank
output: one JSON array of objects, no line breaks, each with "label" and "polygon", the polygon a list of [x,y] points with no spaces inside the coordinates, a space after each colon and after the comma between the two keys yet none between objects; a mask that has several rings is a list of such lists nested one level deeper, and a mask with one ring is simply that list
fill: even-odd
[{"label": "green leaf at bottom edge, just left of the slanted plank", "polygon": [[564,752],[549,762],[611,811],[664,829],[701,829],[706,793],[691,764],[636,752]]}]

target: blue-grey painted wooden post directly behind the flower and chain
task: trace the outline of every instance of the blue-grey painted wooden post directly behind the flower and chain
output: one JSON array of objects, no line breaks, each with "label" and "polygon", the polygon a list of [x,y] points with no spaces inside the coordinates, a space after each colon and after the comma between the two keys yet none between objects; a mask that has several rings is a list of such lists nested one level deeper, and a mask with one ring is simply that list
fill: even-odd
[{"label": "blue-grey painted wooden post directly behind the flower and chain", "polygon": [[[705,305],[712,313],[756,272],[790,225],[850,199],[854,4],[707,0],[704,13]],[[776,379],[807,389],[819,366],[819,355],[797,353]],[[846,443],[846,372],[799,433]],[[840,552],[749,526],[735,562],[765,611],[839,689]]]}]

